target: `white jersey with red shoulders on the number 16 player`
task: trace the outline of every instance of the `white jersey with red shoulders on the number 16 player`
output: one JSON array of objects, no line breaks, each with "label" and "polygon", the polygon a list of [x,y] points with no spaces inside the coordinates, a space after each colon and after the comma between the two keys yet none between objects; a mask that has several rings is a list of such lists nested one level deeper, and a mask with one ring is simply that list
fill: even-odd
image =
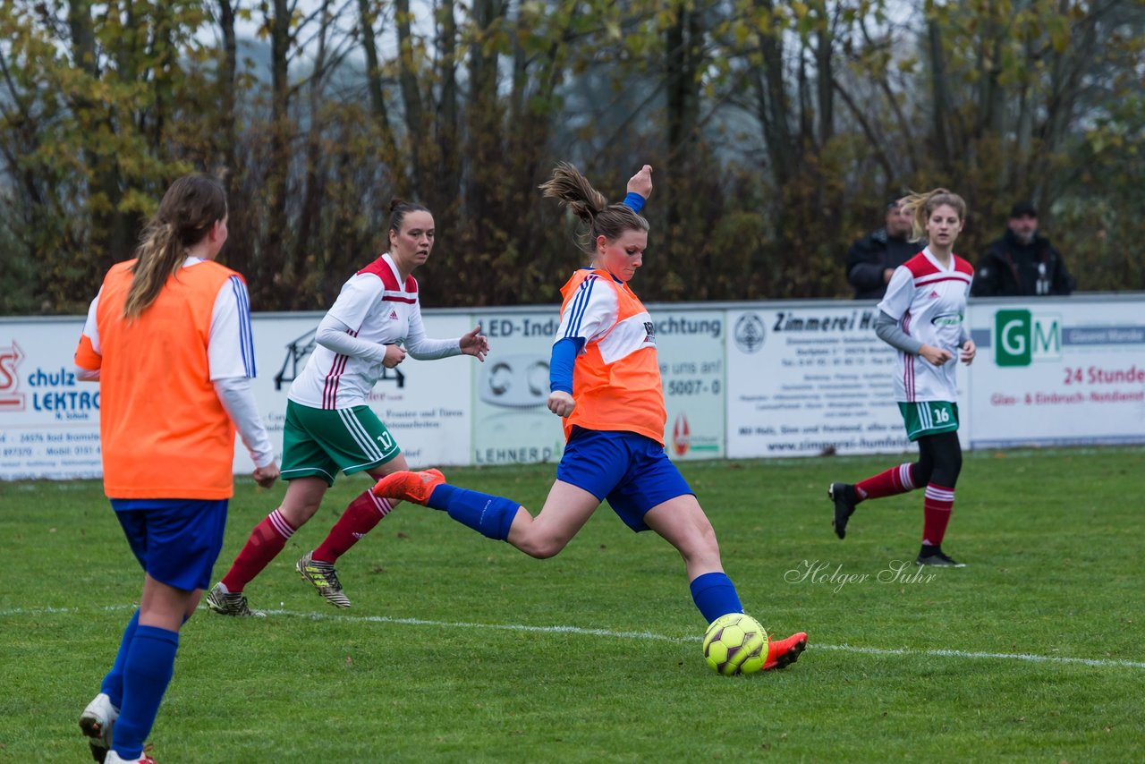
[{"label": "white jersey with red shoulders on the number 16 player", "polygon": [[894,269],[878,309],[898,321],[908,336],[949,351],[955,359],[935,367],[921,355],[900,351],[894,379],[897,401],[957,401],[954,372],[958,348],[966,337],[963,321],[973,275],[973,267],[956,254],[943,268],[930,247]]}]

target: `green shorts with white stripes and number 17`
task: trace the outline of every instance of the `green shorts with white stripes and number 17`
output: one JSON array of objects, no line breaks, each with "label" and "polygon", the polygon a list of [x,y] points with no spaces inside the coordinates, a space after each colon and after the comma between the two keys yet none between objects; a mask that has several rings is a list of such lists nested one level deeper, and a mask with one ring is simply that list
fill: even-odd
[{"label": "green shorts with white stripes and number 17", "polygon": [[339,471],[354,474],[402,452],[369,405],[311,409],[286,401],[283,427],[283,480],[318,476],[334,485]]}]

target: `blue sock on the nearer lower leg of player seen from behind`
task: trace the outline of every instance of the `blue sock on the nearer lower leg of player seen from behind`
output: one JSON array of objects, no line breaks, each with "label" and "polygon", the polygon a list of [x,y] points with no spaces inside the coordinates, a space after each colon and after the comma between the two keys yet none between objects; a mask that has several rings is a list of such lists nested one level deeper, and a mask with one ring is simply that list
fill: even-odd
[{"label": "blue sock on the nearer lower leg of player seen from behind", "polygon": [[[119,708],[112,745],[120,758],[139,758],[143,754],[143,742],[159,714],[159,703],[174,672],[175,652],[179,649],[177,631],[141,627],[137,615],[132,624],[135,635],[123,662],[124,703]],[[132,624],[127,628],[131,629]],[[116,661],[118,665],[118,656]],[[112,674],[114,670],[112,668]]]}]

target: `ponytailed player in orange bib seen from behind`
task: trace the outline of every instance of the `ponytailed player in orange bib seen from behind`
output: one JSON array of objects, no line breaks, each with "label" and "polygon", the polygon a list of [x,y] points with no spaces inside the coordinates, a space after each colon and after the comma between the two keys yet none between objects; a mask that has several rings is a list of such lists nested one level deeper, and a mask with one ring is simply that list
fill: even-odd
[{"label": "ponytailed player in orange bib seen from behind", "polygon": [[278,476],[250,388],[246,285],[214,262],[226,241],[222,184],[176,180],[135,259],[104,277],[76,351],[80,378],[100,380],[104,493],[147,572],[114,663],[79,719],[98,762],[153,761],[143,742],[171,680],[179,630],[222,548],[236,426],[259,485]]}]

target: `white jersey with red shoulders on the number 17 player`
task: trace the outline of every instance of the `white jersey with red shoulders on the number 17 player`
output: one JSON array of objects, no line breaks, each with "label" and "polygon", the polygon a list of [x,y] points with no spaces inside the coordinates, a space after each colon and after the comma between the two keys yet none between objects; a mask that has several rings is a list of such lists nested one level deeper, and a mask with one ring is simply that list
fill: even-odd
[{"label": "white jersey with red shoulders on the number 17 player", "polygon": [[[405,344],[409,349],[425,341],[418,282],[413,276],[403,282],[388,253],[350,276],[326,315],[349,326],[348,333],[365,342]],[[287,397],[313,409],[362,405],[382,372],[378,361],[315,345]]]}]

